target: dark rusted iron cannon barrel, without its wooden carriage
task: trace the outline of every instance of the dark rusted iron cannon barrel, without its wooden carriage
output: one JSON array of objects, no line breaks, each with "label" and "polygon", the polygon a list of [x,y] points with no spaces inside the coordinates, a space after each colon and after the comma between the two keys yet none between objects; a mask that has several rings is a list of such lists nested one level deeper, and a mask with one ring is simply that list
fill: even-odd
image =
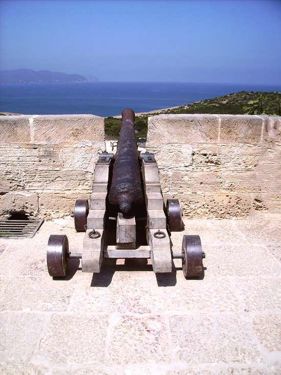
[{"label": "dark rusted iron cannon barrel, without its wooden carriage", "polygon": [[125,217],[133,215],[143,201],[134,118],[132,109],[124,109],[108,196],[109,203],[118,206]]}]

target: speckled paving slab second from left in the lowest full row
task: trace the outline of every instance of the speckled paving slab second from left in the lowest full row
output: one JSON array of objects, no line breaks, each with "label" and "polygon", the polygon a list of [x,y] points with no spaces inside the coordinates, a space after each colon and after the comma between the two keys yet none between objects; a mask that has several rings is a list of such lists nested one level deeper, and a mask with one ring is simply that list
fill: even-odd
[{"label": "speckled paving slab second from left in the lowest full row", "polygon": [[[37,359],[59,366],[100,364],[104,362],[107,325],[108,318],[104,315],[54,314],[45,335],[41,336]],[[99,345],[93,345],[93,338]]]}]

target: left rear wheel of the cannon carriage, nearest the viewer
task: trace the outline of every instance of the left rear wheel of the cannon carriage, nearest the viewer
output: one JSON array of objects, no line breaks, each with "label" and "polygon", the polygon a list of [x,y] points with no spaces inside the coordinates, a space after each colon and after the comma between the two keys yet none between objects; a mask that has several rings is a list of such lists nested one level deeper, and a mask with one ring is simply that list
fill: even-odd
[{"label": "left rear wheel of the cannon carriage, nearest the viewer", "polygon": [[52,277],[65,277],[68,268],[68,239],[65,234],[51,234],[48,241],[47,266]]}]

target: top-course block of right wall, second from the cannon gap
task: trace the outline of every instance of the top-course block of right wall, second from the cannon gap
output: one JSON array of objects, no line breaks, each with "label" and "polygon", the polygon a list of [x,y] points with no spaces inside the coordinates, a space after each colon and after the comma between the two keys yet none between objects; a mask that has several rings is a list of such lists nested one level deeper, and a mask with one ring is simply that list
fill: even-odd
[{"label": "top-course block of right wall, second from the cannon gap", "polygon": [[250,115],[218,115],[221,143],[259,143],[264,119]]}]

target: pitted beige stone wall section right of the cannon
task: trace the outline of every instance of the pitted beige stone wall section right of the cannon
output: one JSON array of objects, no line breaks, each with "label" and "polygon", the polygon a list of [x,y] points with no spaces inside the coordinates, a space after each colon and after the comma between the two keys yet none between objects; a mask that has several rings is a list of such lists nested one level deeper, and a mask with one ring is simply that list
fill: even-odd
[{"label": "pitted beige stone wall section right of the cannon", "polygon": [[163,195],[178,198],[186,216],[281,212],[281,117],[153,116],[147,149]]}]

